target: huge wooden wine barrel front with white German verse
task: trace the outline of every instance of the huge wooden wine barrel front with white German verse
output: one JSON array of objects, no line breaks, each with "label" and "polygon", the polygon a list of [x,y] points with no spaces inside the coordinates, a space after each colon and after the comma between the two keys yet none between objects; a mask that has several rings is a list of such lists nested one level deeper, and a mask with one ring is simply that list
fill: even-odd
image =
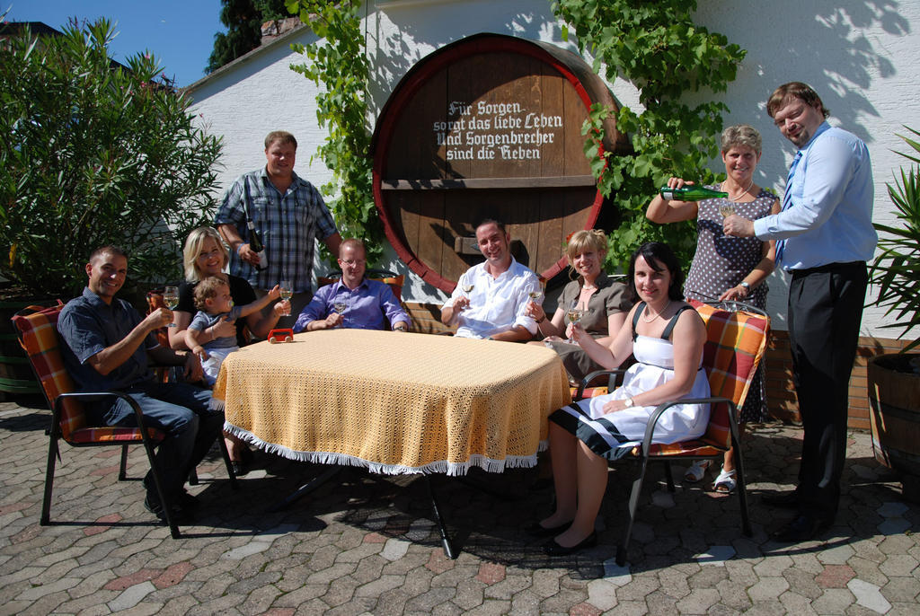
[{"label": "huge wooden wine barrel front with white German verse", "polygon": [[[475,224],[505,222],[512,252],[546,279],[566,267],[569,234],[601,211],[581,126],[593,103],[616,108],[580,56],[496,34],[417,63],[374,131],[374,200],[408,267],[445,292],[482,260]],[[627,154],[614,120],[604,149]]]}]

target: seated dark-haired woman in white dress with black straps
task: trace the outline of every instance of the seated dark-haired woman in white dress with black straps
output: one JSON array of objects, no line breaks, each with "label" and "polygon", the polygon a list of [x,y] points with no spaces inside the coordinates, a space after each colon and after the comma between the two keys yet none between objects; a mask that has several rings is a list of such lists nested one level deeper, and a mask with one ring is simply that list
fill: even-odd
[{"label": "seated dark-haired woman in white dress with black straps", "polygon": [[[626,455],[645,434],[657,405],[683,397],[706,397],[709,383],[701,367],[706,325],[682,301],[683,274],[667,245],[638,248],[629,265],[631,291],[639,302],[611,339],[599,344],[579,325],[571,335],[605,368],[616,368],[631,354],[638,363],[613,394],[582,400],[550,416],[556,511],[527,532],[557,535],[546,553],[563,555],[597,542],[594,519],[607,485],[607,461]],[[653,442],[693,439],[706,431],[708,405],[673,406],[658,422]]]}]

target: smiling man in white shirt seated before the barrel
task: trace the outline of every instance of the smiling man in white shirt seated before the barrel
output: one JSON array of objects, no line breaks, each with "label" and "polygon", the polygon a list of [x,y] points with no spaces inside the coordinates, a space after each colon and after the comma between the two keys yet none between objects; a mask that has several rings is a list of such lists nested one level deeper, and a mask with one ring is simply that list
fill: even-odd
[{"label": "smiling man in white shirt seated before the barrel", "polygon": [[525,342],[534,337],[536,322],[525,314],[531,291],[540,281],[512,257],[511,235],[498,221],[476,228],[484,263],[466,270],[450,299],[441,307],[444,325],[458,325],[456,336]]}]

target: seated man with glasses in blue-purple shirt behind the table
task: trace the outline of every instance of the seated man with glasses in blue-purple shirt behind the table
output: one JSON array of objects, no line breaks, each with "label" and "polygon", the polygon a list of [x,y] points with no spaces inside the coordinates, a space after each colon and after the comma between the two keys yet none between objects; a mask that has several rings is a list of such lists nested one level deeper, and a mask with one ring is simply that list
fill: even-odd
[{"label": "seated man with glasses in blue-purple shirt behind the table", "polygon": [[364,278],[367,261],[361,240],[348,239],[339,246],[342,278],[316,291],[297,317],[295,332],[332,327],[408,331],[408,314],[388,285]]}]

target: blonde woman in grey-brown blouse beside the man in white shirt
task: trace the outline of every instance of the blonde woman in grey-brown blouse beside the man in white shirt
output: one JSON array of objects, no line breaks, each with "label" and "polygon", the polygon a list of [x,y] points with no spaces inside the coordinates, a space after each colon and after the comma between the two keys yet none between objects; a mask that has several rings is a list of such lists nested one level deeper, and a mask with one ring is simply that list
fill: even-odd
[{"label": "blonde woman in grey-brown blouse beside the man in white shirt", "polygon": [[553,348],[562,358],[562,363],[572,381],[580,381],[601,366],[592,360],[577,344],[569,343],[566,338],[566,309],[572,304],[585,309],[580,325],[601,344],[608,342],[612,332],[619,331],[627,318],[634,300],[625,282],[616,281],[604,273],[604,257],[607,255],[607,237],[597,229],[577,231],[569,238],[566,245],[566,257],[569,259],[569,276],[576,276],[562,290],[558,308],[553,317],[547,318],[543,306],[529,302],[527,308],[536,321],[543,342]]}]

